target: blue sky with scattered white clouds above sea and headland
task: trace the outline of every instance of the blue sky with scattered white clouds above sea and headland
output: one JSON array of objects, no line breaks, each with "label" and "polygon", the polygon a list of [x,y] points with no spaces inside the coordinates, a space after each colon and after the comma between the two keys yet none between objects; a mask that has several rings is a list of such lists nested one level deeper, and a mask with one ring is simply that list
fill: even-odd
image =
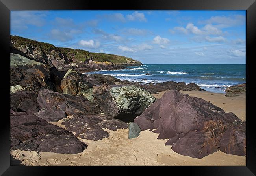
[{"label": "blue sky with scattered white clouds above sea and headland", "polygon": [[143,64],[246,63],[246,11],[11,11],[10,33]]}]

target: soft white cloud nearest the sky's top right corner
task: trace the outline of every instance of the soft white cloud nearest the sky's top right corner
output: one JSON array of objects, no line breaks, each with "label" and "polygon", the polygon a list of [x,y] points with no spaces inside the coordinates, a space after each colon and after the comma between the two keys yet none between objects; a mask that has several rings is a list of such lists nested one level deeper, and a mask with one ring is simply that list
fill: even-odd
[{"label": "soft white cloud nearest the sky's top right corner", "polygon": [[217,28],[226,28],[237,25],[245,25],[245,15],[212,16],[208,20],[200,21],[200,24],[215,24]]}]

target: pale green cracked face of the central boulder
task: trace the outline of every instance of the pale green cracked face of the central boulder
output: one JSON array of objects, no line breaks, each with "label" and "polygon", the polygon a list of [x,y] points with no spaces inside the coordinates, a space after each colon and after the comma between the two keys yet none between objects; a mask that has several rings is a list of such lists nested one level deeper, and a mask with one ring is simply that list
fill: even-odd
[{"label": "pale green cracked face of the central boulder", "polygon": [[135,85],[112,87],[109,94],[114,98],[117,108],[122,111],[139,107],[136,114],[141,114],[156,100],[149,91]]}]

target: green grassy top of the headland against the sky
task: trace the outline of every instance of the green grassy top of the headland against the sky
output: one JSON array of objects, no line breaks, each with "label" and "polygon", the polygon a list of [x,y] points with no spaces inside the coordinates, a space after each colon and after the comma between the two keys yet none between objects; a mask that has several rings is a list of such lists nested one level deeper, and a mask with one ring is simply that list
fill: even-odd
[{"label": "green grassy top of the headland against the sky", "polygon": [[141,62],[124,56],[105,53],[91,53],[82,49],[56,47],[52,44],[38,42],[20,36],[10,36],[10,40],[12,47],[19,51],[32,53],[36,51],[46,55],[52,54],[56,57],[64,56],[70,62],[93,60],[95,62],[112,62],[113,64],[142,65]]}]

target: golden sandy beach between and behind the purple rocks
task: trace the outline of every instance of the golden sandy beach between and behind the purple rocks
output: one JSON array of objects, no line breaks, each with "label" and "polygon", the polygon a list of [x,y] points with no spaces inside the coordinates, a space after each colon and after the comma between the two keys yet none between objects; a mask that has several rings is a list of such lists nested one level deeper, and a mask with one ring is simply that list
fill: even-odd
[{"label": "golden sandy beach between and behind the purple rocks", "polygon": [[[225,112],[233,112],[241,120],[246,119],[246,94],[238,97],[224,97],[221,93],[207,91],[180,91],[203,98],[204,100],[221,107]],[[165,91],[154,94],[161,98]],[[63,127],[63,121],[52,122],[54,125]],[[102,140],[83,140],[89,146],[78,154],[57,154],[51,152],[36,151],[11,151],[11,155],[22,161],[23,165],[29,166],[245,166],[246,157],[225,154],[217,151],[202,159],[191,158],[172,151],[171,146],[165,146],[168,140],[158,140],[158,134],[142,131],[139,137],[128,139],[128,129],[111,131],[111,134]]]}]

